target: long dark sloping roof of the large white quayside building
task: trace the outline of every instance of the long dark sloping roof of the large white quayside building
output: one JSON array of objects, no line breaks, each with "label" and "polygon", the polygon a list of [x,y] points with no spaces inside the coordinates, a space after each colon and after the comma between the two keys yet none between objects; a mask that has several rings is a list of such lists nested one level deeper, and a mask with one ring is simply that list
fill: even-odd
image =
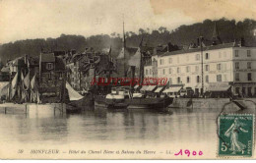
[{"label": "long dark sloping roof of the large white quayside building", "polygon": [[[223,48],[229,48],[229,47],[236,47],[235,42],[218,44],[218,45],[213,45],[213,46],[206,46],[206,47],[203,47],[203,51],[214,50],[214,49],[223,49]],[[183,53],[193,53],[193,52],[199,52],[199,51],[201,51],[200,47],[192,48],[192,49],[182,49],[182,50],[166,52],[166,53],[160,55],[160,57],[176,55],[176,54],[183,54]]]}]

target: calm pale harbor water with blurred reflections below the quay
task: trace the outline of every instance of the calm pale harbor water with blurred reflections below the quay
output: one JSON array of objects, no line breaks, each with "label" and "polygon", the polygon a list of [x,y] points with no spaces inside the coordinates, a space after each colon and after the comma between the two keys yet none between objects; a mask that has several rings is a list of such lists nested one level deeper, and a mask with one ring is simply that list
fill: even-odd
[{"label": "calm pale harbor water with blurred reflections below the quay", "polygon": [[0,139],[26,143],[208,141],[216,136],[220,110],[205,110],[172,109],[173,114],[163,114],[96,109],[80,115],[46,118],[0,114]]}]

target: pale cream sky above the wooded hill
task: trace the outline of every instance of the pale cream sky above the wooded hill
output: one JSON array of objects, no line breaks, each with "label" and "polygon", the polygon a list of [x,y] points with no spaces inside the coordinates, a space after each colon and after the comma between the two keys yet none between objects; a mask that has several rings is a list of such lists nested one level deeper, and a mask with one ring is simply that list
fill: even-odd
[{"label": "pale cream sky above the wooded hill", "polygon": [[256,20],[256,0],[0,0],[0,43],[60,34],[171,30],[221,18]]}]

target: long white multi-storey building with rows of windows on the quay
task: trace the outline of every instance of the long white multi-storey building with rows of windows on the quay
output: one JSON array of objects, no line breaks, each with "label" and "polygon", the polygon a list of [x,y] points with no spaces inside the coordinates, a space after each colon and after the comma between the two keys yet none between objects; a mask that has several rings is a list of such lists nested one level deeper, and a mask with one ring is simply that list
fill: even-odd
[{"label": "long white multi-storey building with rows of windows on the quay", "polygon": [[[145,67],[146,72],[150,69],[153,66]],[[202,88],[205,92],[214,83],[218,89],[223,83],[233,93],[252,96],[256,94],[256,47],[231,42],[166,52],[158,56],[158,78],[192,87],[195,92]]]}]

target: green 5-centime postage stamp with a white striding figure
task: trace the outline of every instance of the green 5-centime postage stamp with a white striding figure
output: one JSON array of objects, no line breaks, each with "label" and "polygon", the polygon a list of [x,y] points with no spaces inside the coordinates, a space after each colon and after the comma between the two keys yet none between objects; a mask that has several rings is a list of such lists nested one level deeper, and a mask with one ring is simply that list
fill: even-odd
[{"label": "green 5-centime postage stamp with a white striding figure", "polygon": [[254,115],[227,114],[219,117],[219,156],[252,156]]}]

